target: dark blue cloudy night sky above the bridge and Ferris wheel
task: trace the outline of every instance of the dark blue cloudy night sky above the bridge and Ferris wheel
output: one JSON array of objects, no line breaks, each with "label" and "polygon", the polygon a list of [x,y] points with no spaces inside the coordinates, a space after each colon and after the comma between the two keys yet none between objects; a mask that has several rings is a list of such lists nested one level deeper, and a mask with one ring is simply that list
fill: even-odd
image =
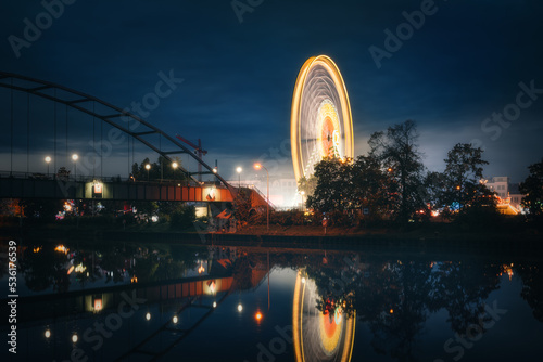
[{"label": "dark blue cloudy night sky above the bridge and Ferris wheel", "polygon": [[[18,57],[10,36],[23,39],[24,20],[36,24],[45,8],[40,1],[2,2],[0,68],[119,107],[140,102],[154,90],[159,73],[173,69],[182,83],[146,119],[172,135],[202,139],[210,151],[204,159],[214,165],[218,158],[226,178],[237,179],[236,166],[249,169],[256,159],[293,174],[285,152],[292,91],[305,60],[318,54],[329,55],[345,80],[356,155],[368,151],[372,132],[414,119],[430,170],[443,170],[446,152],[458,142],[485,148],[485,177],[509,176],[514,182],[543,157],[539,0],[438,0],[433,5],[240,0],[235,4],[247,7],[242,14],[229,0],[65,2],[73,3],[29,48],[18,49]],[[421,10],[427,14],[418,29],[402,26],[404,12]],[[401,34],[396,49],[388,43],[378,67],[369,49],[386,51],[386,30],[396,35],[399,26],[413,31]],[[522,87],[535,91],[521,95],[519,107]],[[504,109],[512,121],[485,121]],[[5,113],[3,107],[3,131]],[[2,140],[5,169],[5,133]],[[39,143],[37,135],[33,147]]]}]

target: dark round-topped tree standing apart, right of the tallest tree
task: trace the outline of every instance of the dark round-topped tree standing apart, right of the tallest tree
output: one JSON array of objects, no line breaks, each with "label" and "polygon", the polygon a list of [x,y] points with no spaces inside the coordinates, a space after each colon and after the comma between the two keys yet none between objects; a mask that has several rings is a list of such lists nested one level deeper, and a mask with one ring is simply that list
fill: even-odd
[{"label": "dark round-topped tree standing apart, right of the tallest tree", "polygon": [[470,206],[495,205],[492,192],[480,181],[482,166],[489,163],[482,159],[483,151],[469,143],[457,143],[447,153],[445,161],[445,188],[443,201],[451,207],[458,203],[459,210]]}]

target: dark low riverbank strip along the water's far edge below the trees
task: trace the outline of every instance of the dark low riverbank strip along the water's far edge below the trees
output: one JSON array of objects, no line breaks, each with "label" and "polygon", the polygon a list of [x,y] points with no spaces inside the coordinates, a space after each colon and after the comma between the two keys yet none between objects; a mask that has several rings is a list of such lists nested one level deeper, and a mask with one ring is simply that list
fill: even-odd
[{"label": "dark low riverbank strip along the water's far edge below the trees", "polygon": [[[200,229],[197,232],[195,229]],[[88,241],[138,241],[206,244],[218,241],[262,243],[263,241],[287,241],[304,243],[379,243],[430,242],[430,243],[497,243],[514,241],[543,245],[543,233],[535,229],[521,230],[463,230],[450,223],[433,223],[397,229],[327,228],[317,225],[266,225],[247,227],[236,233],[213,233],[203,228],[173,230],[167,224],[130,225],[126,228],[76,227],[56,224],[28,224],[23,228],[0,228],[2,238],[30,240],[88,240]]]}]

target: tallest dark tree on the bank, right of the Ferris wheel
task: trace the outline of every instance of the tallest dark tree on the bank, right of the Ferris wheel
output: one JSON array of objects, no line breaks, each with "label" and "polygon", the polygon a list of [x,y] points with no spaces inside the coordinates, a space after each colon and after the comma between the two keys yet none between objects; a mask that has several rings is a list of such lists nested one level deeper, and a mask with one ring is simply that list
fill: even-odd
[{"label": "tallest dark tree on the bank, right of the Ferris wheel", "polygon": [[375,132],[369,139],[369,155],[379,159],[397,183],[401,222],[406,222],[422,206],[418,186],[424,165],[417,141],[417,124],[411,119],[389,127],[387,133]]}]

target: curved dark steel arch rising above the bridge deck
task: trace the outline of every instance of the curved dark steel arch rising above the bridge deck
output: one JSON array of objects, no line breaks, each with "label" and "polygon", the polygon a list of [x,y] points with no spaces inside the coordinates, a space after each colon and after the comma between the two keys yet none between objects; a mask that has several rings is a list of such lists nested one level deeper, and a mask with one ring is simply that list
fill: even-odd
[{"label": "curved dark steel arch rising above the bridge deck", "polygon": [[[185,171],[185,173],[188,174],[191,179],[193,179],[194,174],[212,174],[216,179],[218,179],[230,192],[232,191],[232,188],[226,182],[226,180],[220,177],[220,174],[214,172],[213,168],[204,163],[201,158],[199,158],[189,147],[185,146],[182,143],[178,142],[175,138],[168,135],[157,127],[141,119],[135,114],[127,112],[126,109],[121,109],[119,107],[96,96],[61,85],[1,70],[0,87],[11,89],[12,91],[15,90],[25,92],[27,94],[37,95],[46,100],[63,104],[66,107],[74,108],[84,114],[90,115],[93,118],[100,119],[101,121],[141,142],[141,144],[163,156],[171,163],[174,161],[171,155],[187,154],[192,157],[198,164],[200,164],[204,168],[204,170],[198,172],[188,172],[188,170],[179,167],[181,171]],[[85,105],[88,104],[92,104],[92,107],[85,107]],[[96,104],[102,106],[102,112],[96,111]],[[119,122],[118,120],[121,120],[122,122]],[[130,127],[130,122],[135,122],[136,125],[142,127]],[[126,126],[124,124],[126,124]],[[142,128],[142,130],[135,132],[130,128]],[[152,134],[159,135],[159,145],[144,138],[146,135]],[[169,143],[169,148],[163,150],[163,139]]]}]

